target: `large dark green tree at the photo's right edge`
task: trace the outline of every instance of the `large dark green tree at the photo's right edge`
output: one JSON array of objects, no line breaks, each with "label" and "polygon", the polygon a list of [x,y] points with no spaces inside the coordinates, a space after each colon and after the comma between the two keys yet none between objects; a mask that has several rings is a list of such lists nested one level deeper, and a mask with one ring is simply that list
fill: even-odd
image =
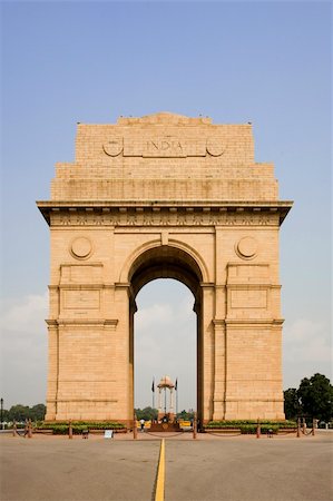
[{"label": "large dark green tree at the photo's right edge", "polygon": [[333,386],[323,374],[304,377],[297,390],[303,412],[311,419],[329,422],[333,415]]}]

